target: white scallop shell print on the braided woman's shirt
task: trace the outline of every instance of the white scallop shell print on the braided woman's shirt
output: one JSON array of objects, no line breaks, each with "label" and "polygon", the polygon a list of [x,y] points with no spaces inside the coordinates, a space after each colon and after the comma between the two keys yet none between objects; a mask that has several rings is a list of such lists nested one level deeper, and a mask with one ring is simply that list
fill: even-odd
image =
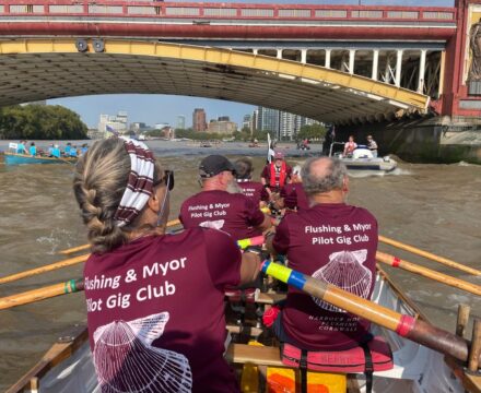
[{"label": "white scallop shell print on the braided woman's shirt", "polygon": [[161,312],[130,322],[114,321],[95,331],[93,358],[103,393],[191,391],[187,358],[152,346],[168,318],[168,312]]}]

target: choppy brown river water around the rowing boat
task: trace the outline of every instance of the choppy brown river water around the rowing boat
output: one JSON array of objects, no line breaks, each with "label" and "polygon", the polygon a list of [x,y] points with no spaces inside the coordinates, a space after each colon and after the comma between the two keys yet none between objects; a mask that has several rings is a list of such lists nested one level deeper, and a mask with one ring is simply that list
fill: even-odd
[{"label": "choppy brown river water around the rowing boat", "polygon": [[[198,192],[197,167],[208,154],[230,158],[250,155],[258,179],[265,147],[242,143],[199,147],[188,142],[148,142],[161,162],[175,170],[171,218],[180,203]],[[47,146],[39,141],[37,146]],[[0,141],[0,150],[8,142]],[[301,164],[294,146],[285,145],[288,163]],[[313,146],[309,154],[318,153]],[[0,158],[0,277],[60,261],[59,250],[83,245],[85,231],[71,190],[72,166],[23,165],[8,167]],[[385,176],[354,174],[351,204],[368,209],[379,222],[379,234],[466,265],[481,269],[481,166],[464,163],[420,165],[400,163]],[[401,252],[385,245],[380,250],[481,285],[481,278]],[[432,322],[454,332],[457,305],[471,306],[481,317],[481,298],[411,273],[387,269],[392,278]],[[81,276],[75,265],[0,285],[0,297]],[[32,367],[70,326],[85,322],[83,294],[57,297],[0,311],[0,390]],[[471,329],[471,327],[469,327]]]}]

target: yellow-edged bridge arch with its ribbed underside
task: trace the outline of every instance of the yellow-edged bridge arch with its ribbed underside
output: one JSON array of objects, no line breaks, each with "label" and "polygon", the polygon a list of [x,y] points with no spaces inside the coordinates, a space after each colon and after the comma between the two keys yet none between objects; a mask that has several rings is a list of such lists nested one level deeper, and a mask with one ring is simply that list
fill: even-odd
[{"label": "yellow-edged bridge arch with its ribbed underside", "polygon": [[261,105],[335,123],[424,112],[424,95],[227,49],[131,40],[0,41],[0,106],[95,94],[173,94]]}]

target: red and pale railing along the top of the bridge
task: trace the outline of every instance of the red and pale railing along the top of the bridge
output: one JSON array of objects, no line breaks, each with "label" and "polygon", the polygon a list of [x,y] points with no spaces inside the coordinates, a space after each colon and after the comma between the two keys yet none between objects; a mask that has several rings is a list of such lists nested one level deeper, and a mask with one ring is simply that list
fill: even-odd
[{"label": "red and pale railing along the top of the bridge", "polygon": [[5,0],[2,16],[108,16],[145,19],[195,19],[284,21],[392,21],[455,22],[455,8],[387,5],[298,5],[246,3],[179,3],[116,0]]}]

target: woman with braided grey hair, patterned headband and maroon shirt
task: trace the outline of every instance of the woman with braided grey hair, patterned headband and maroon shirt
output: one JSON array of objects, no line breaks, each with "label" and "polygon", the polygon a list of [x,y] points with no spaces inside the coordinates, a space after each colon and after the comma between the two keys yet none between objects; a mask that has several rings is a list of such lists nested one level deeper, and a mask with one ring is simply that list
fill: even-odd
[{"label": "woman with braided grey hair, patterned headband and maroon shirt", "polygon": [[77,165],[102,392],[238,392],[223,359],[223,290],[254,281],[260,259],[214,229],[166,235],[173,188],[173,172],[138,141],[98,141]]}]

